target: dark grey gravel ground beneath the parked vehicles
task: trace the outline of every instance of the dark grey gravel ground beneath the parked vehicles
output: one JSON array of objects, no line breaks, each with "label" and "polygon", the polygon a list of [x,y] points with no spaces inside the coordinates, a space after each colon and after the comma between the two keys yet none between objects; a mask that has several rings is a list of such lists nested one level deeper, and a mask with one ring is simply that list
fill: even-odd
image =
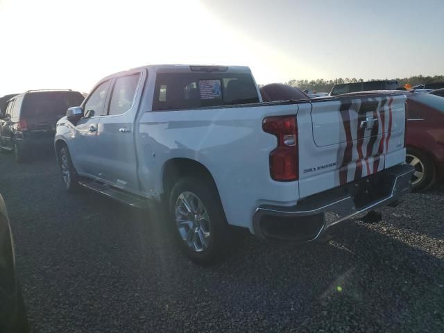
[{"label": "dark grey gravel ground beneath the parked vehicles", "polygon": [[444,186],[327,245],[246,237],[201,268],[155,210],[65,193],[53,156],[0,161],[33,332],[444,332]]}]

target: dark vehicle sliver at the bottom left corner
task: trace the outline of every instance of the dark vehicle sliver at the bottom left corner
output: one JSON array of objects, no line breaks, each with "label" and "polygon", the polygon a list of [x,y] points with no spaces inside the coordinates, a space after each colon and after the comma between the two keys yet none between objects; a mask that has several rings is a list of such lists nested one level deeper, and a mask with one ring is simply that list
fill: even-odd
[{"label": "dark vehicle sliver at the bottom left corner", "polygon": [[0,332],[26,333],[28,320],[15,269],[14,242],[8,212],[0,195]]}]

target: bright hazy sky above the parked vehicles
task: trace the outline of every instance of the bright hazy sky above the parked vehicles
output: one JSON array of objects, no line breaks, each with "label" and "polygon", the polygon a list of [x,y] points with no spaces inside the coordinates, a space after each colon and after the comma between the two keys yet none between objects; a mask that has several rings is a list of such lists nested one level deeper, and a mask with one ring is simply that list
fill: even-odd
[{"label": "bright hazy sky above the parked vehicles", "polygon": [[443,22],[443,0],[0,0],[0,96],[165,63],[262,84],[443,75]]}]

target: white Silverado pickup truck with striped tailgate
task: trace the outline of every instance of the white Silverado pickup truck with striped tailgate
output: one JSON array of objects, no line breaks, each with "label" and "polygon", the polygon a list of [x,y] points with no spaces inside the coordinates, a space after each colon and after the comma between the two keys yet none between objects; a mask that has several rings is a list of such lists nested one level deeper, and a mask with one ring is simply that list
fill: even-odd
[{"label": "white Silverado pickup truck with striped tailgate", "polygon": [[103,78],[58,121],[68,191],[165,203],[200,264],[230,247],[230,225],[315,241],[410,191],[405,96],[371,92],[265,103],[248,67],[159,65]]}]

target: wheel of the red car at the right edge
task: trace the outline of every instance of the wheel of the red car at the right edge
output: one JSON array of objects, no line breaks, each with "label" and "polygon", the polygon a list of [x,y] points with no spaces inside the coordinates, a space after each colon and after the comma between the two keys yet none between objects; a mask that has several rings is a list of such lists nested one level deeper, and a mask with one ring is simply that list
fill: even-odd
[{"label": "wheel of the red car at the right edge", "polygon": [[406,162],[415,168],[411,180],[414,191],[424,191],[434,185],[436,181],[436,167],[432,159],[416,148],[407,148]]}]

